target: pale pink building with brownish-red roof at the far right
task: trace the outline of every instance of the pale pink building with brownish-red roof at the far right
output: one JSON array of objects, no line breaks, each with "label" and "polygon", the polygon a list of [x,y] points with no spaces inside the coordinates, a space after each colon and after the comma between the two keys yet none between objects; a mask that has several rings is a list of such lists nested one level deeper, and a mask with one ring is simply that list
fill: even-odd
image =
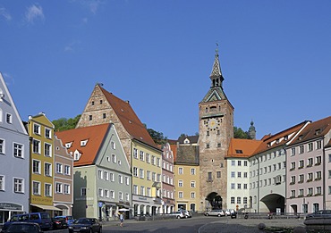
[{"label": "pale pink building with brownish-red roof at the far right", "polygon": [[330,134],[328,117],[310,123],[286,147],[288,213],[305,214],[331,207]]}]

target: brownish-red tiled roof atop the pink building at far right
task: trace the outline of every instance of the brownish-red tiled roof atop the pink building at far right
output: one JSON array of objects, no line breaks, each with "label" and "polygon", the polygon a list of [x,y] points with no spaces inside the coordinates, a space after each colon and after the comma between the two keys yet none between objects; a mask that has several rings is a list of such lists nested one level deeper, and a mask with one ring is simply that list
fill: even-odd
[{"label": "brownish-red tiled roof atop the pink building at far right", "polygon": [[[301,131],[291,145],[301,143],[301,141],[313,140],[318,137],[324,137],[331,130],[331,116],[311,122],[305,129]],[[330,142],[328,142],[330,143]]]}]

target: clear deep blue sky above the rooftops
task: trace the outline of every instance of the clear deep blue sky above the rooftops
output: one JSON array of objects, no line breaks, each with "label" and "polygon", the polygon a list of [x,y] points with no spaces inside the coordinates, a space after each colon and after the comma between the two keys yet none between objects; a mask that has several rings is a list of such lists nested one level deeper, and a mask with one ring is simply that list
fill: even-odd
[{"label": "clear deep blue sky above the rooftops", "polygon": [[168,138],[199,131],[219,44],[234,125],[330,115],[331,1],[0,0],[0,71],[23,121],[80,114],[96,83]]}]

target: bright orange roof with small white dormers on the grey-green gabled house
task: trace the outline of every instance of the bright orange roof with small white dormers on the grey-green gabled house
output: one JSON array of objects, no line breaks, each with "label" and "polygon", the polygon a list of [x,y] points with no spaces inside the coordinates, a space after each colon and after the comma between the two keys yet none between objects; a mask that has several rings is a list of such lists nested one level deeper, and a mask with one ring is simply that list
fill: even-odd
[{"label": "bright orange roof with small white dormers on the grey-green gabled house", "polygon": [[[56,137],[61,139],[66,144],[72,144],[68,152],[73,154],[78,151],[81,157],[78,161],[73,162],[73,166],[84,166],[95,164],[96,156],[98,155],[98,150],[104,141],[106,132],[108,131],[111,124],[101,124],[95,126],[88,126],[77,129],[69,129],[62,132],[55,132]],[[81,146],[81,141],[87,140],[85,146]]]}]

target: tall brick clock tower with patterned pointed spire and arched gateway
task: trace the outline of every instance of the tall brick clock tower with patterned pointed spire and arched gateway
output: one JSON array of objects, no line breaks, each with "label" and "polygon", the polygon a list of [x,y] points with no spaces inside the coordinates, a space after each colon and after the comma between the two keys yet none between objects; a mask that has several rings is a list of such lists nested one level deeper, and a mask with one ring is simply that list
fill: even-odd
[{"label": "tall brick clock tower with patterned pointed spire and arched gateway", "polygon": [[226,209],[226,161],[233,137],[233,105],[225,96],[216,49],[211,86],[199,103],[199,179],[201,211]]}]

